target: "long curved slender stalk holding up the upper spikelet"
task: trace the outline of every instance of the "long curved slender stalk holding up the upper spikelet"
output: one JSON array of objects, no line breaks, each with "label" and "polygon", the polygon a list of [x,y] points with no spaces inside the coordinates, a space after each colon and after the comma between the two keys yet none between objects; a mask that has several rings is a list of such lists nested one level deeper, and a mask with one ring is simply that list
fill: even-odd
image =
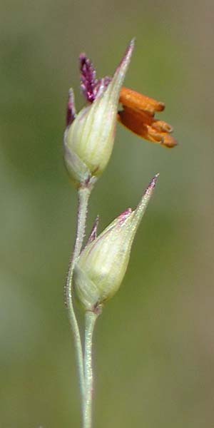
[{"label": "long curved slender stalk holding up the upper spikelet", "polygon": [[85,235],[86,228],[86,216],[88,210],[88,198],[91,193],[91,188],[79,188],[78,190],[78,220],[76,229],[76,240],[73,249],[73,254],[68,267],[68,276],[65,287],[66,295],[66,306],[68,308],[68,318],[73,332],[74,346],[76,350],[76,360],[78,365],[79,382],[81,388],[82,405],[84,400],[84,368],[83,368],[83,351],[81,345],[81,335],[78,328],[78,322],[73,309],[73,296],[72,296],[72,279],[73,279],[73,268],[75,265],[76,258],[81,252],[83,245],[83,238]]}]

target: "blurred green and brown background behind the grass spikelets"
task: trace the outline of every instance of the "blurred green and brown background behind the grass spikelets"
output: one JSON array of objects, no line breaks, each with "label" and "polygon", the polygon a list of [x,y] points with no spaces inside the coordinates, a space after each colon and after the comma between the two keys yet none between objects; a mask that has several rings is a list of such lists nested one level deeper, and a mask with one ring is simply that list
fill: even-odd
[{"label": "blurred green and brown background behind the grass spikelets", "polygon": [[135,207],[159,172],[126,279],[94,340],[94,428],[211,428],[214,420],[213,1],[9,0],[1,4],[1,427],[80,427],[63,284],[76,192],[62,161],[78,54],[164,101],[180,145],[118,126],[88,230]]}]

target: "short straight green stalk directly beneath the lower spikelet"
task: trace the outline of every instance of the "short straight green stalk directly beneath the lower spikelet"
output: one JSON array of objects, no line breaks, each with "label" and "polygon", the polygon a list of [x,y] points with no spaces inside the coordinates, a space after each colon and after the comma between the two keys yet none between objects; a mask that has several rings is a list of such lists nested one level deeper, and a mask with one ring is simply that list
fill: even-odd
[{"label": "short straight green stalk directly beneath the lower spikelet", "polygon": [[93,367],[92,367],[92,337],[98,314],[87,311],[85,315],[85,397],[83,405],[83,428],[91,428],[92,415],[92,394],[93,394]]}]

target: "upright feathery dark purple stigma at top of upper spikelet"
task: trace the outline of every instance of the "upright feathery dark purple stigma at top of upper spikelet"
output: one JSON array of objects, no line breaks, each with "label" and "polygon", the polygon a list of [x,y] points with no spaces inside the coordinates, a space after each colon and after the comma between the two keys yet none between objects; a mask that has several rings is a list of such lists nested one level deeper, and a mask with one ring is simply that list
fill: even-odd
[{"label": "upright feathery dark purple stigma at top of upper spikelet", "polygon": [[93,67],[93,63],[91,63],[90,59],[87,58],[86,54],[81,54],[79,61],[81,71],[81,89],[86,100],[89,101],[89,103],[93,103],[96,98],[96,86],[98,83],[96,79],[96,70]]}]

